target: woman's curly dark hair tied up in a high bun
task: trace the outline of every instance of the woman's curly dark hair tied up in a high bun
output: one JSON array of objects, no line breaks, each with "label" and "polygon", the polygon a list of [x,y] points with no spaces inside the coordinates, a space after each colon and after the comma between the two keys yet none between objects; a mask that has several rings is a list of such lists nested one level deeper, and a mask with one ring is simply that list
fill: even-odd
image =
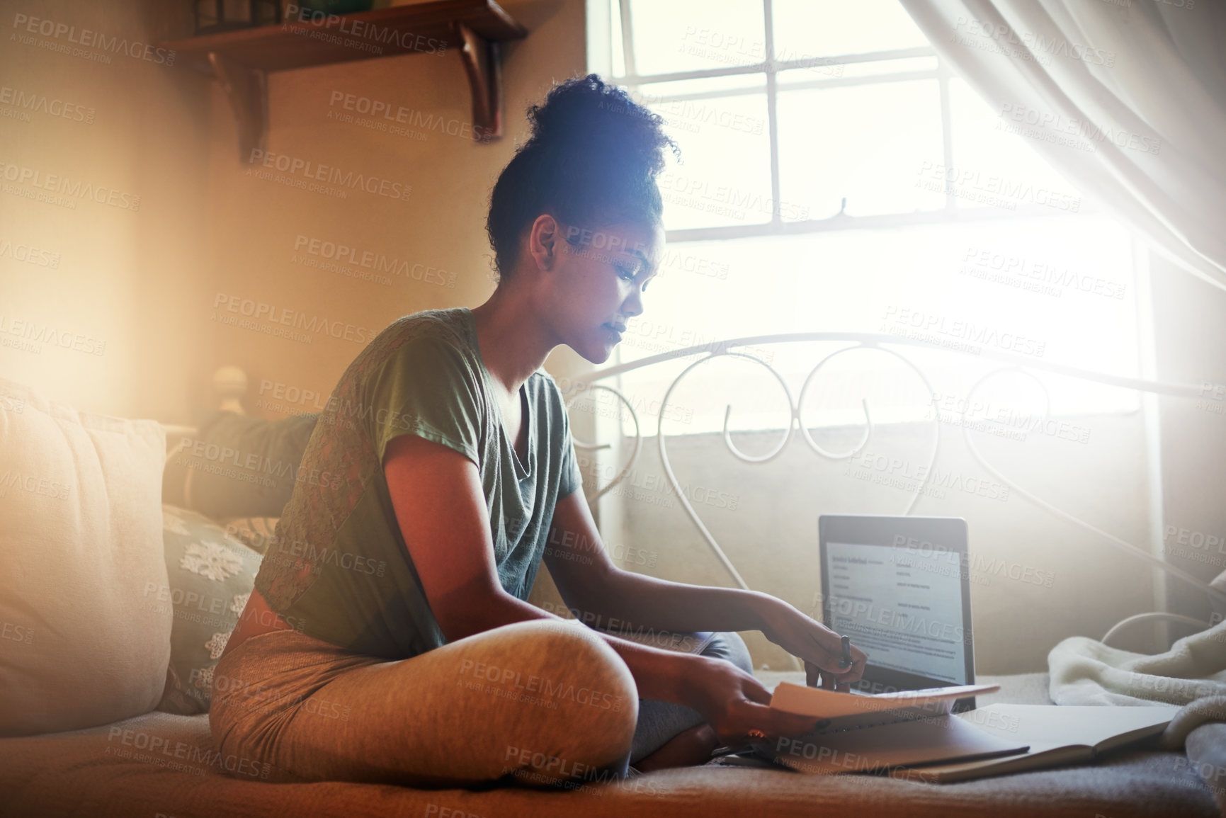
[{"label": "woman's curly dark hair tied up in a high bun", "polygon": [[520,240],[541,213],[586,227],[660,223],[656,175],[664,168],[664,148],[678,158],[680,151],[658,114],[588,74],[555,85],[527,115],[532,136],[489,196],[485,232],[499,281],[511,272]]}]

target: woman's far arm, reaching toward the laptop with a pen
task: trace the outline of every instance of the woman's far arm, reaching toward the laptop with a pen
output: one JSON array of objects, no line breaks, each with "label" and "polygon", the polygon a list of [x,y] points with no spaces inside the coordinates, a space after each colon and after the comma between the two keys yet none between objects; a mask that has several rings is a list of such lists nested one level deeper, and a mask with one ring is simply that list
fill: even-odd
[{"label": "woman's far arm, reaching toward the laptop with a pen", "polygon": [[852,666],[840,668],[836,633],[796,607],[759,591],[706,587],[622,570],[608,558],[581,491],[558,500],[546,564],[576,618],[596,628],[661,630],[760,630],[805,661],[809,683],[857,681],[867,656],[852,648]]}]

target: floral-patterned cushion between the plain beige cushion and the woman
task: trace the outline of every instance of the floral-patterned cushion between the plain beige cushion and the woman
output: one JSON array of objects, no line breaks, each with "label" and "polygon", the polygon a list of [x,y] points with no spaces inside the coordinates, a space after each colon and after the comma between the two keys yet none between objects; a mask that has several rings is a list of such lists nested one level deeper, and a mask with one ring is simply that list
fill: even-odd
[{"label": "floral-patterned cushion between the plain beige cushion and the woman", "polygon": [[197,511],[162,506],[169,581],[146,589],[151,605],[173,608],[170,672],[158,710],[206,713],[213,667],[255,585],[260,554]]}]

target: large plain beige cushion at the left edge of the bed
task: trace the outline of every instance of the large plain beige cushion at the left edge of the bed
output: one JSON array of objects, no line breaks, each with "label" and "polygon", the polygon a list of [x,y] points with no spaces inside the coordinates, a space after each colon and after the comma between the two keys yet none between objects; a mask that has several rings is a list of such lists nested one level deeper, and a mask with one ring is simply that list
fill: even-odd
[{"label": "large plain beige cushion at the left edge of the bed", "polygon": [[0,379],[0,735],[152,710],[170,659],[154,421],[78,412]]}]

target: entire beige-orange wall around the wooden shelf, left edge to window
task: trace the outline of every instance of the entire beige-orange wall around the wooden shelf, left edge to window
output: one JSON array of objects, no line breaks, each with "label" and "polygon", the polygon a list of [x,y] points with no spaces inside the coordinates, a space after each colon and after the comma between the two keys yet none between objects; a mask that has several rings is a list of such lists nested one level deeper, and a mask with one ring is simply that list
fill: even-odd
[{"label": "entire beige-orange wall around the wooden shelf, left edge to window", "polygon": [[[141,43],[184,37],[191,32],[190,4],[36,0],[4,6],[0,85],[12,90],[5,93],[92,108],[93,121],[38,112],[23,121],[21,108],[0,103],[17,113],[0,117],[0,162],[15,166],[12,173],[39,172],[43,183],[56,174],[70,185],[139,195],[140,205],[77,200],[67,208],[18,195],[44,193],[28,180],[6,182],[0,338],[10,346],[0,346],[0,377],[81,408],[173,423],[190,422],[215,403],[210,377],[223,364],[248,372],[251,413],[310,411],[300,400],[277,401],[282,412],[256,406],[261,383],[326,399],[362,348],[320,331],[297,340],[268,335],[282,326],[267,320],[255,321],[259,330],[223,324],[219,316],[243,316],[215,310],[219,294],[275,307],[291,321],[302,316],[319,326],[327,320],[342,332],[335,323],[343,321],[354,338],[419,309],[483,302],[493,289],[484,234],[489,188],[515,140],[526,135],[525,107],[553,80],[581,74],[585,64],[581,0],[504,4],[530,36],[504,47],[506,136],[492,145],[430,128],[471,126],[468,86],[455,50],[271,75],[270,153],[412,188],[407,200],[360,190],[337,199],[249,175],[259,166],[240,161],[229,103],[207,77],[168,66],[166,56],[156,63],[112,55],[108,65],[45,47],[80,50],[69,38],[80,39],[82,29]],[[9,38],[26,33],[28,20],[17,15],[75,28],[29,34],[33,42],[26,44]],[[15,21],[21,22],[16,28]],[[330,104],[333,93],[419,112],[418,126],[406,126],[416,137],[330,119],[330,113],[359,117]],[[270,175],[300,177],[275,169]],[[331,242],[385,256],[405,275],[386,276],[384,285],[309,267],[294,259],[298,237],[308,248],[310,240]],[[15,260],[17,247],[45,250],[51,255],[38,258],[58,259],[58,266]],[[293,313],[287,316],[286,309]],[[9,334],[15,321],[16,336]],[[69,348],[54,341],[12,346],[27,325],[39,337],[48,337],[48,327],[54,338],[71,334]],[[86,352],[98,341],[105,342],[102,354]],[[565,351],[548,365],[559,372],[576,362]]]}]

